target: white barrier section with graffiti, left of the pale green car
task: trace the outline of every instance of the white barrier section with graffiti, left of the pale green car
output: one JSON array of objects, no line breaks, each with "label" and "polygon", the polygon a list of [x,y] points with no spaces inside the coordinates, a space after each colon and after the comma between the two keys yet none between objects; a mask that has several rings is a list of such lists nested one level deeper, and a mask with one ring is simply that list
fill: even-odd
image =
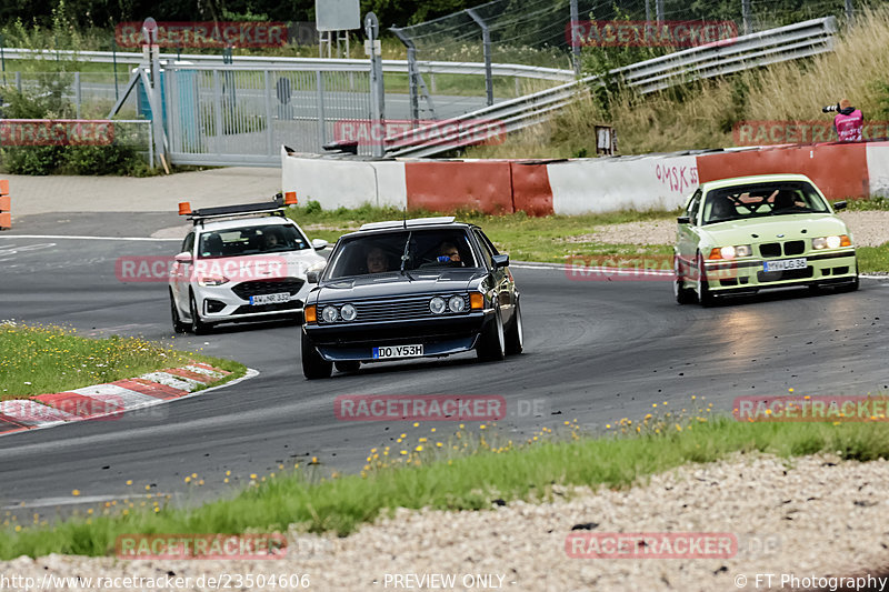
[{"label": "white barrier section with graffiti, left of the pale green car", "polygon": [[698,187],[697,158],[691,155],[552,162],[547,174],[558,214],[671,210]]}]

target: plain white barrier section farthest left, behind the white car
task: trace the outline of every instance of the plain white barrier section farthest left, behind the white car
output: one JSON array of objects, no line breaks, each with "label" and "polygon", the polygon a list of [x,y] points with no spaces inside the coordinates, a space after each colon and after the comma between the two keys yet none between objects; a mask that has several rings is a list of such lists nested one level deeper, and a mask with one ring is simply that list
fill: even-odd
[{"label": "plain white barrier section farthest left, behind the white car", "polygon": [[324,210],[408,203],[404,163],[398,161],[288,155],[281,149],[281,189],[296,191],[300,204],[316,200]]}]

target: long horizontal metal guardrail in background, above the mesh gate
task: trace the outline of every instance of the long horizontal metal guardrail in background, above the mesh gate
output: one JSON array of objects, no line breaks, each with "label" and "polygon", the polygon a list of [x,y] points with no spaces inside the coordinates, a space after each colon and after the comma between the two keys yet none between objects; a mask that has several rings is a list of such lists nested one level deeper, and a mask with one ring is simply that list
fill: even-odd
[{"label": "long horizontal metal guardrail in background, above the mesh gate", "polygon": [[[110,51],[70,51],[70,50],[32,50],[21,48],[4,48],[4,58],[8,60],[23,59],[76,59],[86,62],[138,64],[144,62],[141,53],[112,53]],[[208,56],[204,53],[161,53],[161,61],[167,62],[189,62],[196,67],[219,68],[222,63],[221,56]],[[324,58],[262,58],[253,56],[234,56],[232,63],[239,67],[257,67],[268,70],[289,70],[289,71],[326,71],[326,72],[367,72],[370,68],[368,60],[352,59],[324,59]],[[430,74],[471,74],[485,76],[485,63],[482,62],[443,62],[443,61],[417,61],[421,73]],[[407,60],[382,60],[384,72],[408,73]],[[558,68],[538,68],[535,66],[523,66],[519,63],[495,63],[492,74],[508,78],[535,78],[540,80],[555,80],[567,82],[575,79],[572,70],[560,70]]]}]

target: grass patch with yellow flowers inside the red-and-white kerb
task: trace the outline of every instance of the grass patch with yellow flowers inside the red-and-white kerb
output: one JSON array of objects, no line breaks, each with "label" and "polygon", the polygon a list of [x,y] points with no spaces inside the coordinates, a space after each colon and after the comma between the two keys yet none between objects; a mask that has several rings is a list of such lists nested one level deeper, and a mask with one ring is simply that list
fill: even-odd
[{"label": "grass patch with yellow flowers inside the red-and-white kerb", "polygon": [[242,377],[246,368],[230,360],[176,351],[141,338],[88,339],[56,325],[0,322],[0,400],[54,393],[113,382],[191,360]]}]

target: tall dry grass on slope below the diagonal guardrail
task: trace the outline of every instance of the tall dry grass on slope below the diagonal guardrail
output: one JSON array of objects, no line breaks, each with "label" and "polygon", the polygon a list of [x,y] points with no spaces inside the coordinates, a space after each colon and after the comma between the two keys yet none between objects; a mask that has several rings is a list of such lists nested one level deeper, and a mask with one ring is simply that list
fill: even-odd
[{"label": "tall dry grass on slope below the diagonal guardrail", "polygon": [[596,152],[593,127],[615,127],[621,153],[733,146],[745,120],[826,120],[821,108],[848,98],[866,119],[889,117],[889,9],[862,11],[836,50],[639,94],[631,88],[585,91],[552,121],[478,147],[470,158],[571,158]]}]

